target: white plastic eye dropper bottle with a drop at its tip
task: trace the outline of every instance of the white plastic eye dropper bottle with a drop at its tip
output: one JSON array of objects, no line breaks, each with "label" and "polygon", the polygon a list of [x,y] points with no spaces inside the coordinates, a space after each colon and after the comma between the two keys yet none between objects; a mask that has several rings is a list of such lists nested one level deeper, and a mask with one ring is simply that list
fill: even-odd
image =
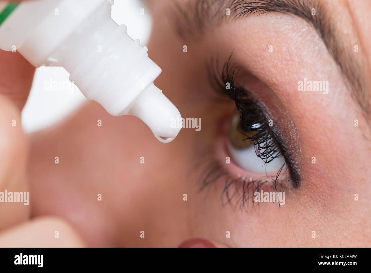
[{"label": "white plastic eye dropper bottle with a drop at its tip", "polygon": [[[147,47],[111,18],[110,0],[37,0],[3,5],[0,48],[33,66],[63,66],[88,99],[114,116],[134,115],[164,143],[181,129],[178,109],[153,81],[161,69]],[[4,7],[5,6],[5,7]],[[4,19],[4,16],[6,18]],[[181,119],[180,119],[181,120]]]}]

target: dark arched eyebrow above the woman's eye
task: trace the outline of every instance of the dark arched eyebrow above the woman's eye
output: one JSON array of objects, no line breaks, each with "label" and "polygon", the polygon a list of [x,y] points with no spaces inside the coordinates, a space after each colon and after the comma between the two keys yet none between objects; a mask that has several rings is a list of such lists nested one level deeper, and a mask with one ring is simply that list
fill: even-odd
[{"label": "dark arched eyebrow above the woman's eye", "polygon": [[[226,9],[230,16],[226,16]],[[315,15],[312,15],[315,9]],[[187,0],[174,1],[170,10],[175,31],[182,39],[200,39],[208,30],[226,20],[237,20],[256,13],[280,12],[293,14],[309,22],[322,38],[328,52],[335,60],[345,83],[351,90],[351,97],[358,104],[362,114],[370,120],[370,83],[367,81],[366,57],[359,49],[357,58],[354,45],[342,39],[332,24],[331,10],[317,0]],[[359,38],[358,38],[359,40]],[[361,45],[359,45],[361,47]]]}]

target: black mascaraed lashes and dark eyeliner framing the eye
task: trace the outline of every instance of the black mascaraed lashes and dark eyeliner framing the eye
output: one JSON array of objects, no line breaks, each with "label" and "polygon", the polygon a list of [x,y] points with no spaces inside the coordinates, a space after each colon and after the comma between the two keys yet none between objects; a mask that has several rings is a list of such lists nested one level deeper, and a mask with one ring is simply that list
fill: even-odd
[{"label": "black mascaraed lashes and dark eyeliner framing the eye", "polygon": [[[251,176],[233,174],[230,171],[231,168],[227,167],[227,164],[224,165],[223,161],[211,159],[212,152],[207,154],[212,162],[204,169],[200,190],[217,180],[220,181],[220,178],[223,177],[226,182],[221,194],[222,203],[224,204],[225,200],[231,203],[232,199],[236,197],[237,204],[242,209],[246,208],[249,201],[254,203],[253,194],[260,191],[262,187],[272,188],[273,191],[283,191],[283,185],[291,185],[293,188],[299,186],[300,170],[297,156],[294,156],[297,145],[291,144],[291,141],[295,140],[297,142],[298,133],[295,124],[289,122],[290,116],[285,109],[277,108],[272,111],[256,93],[244,88],[244,84],[240,85],[237,82],[239,69],[236,63],[232,63],[232,53],[224,62],[221,70],[217,59],[211,59],[207,62],[210,85],[222,98],[229,97],[235,102],[244,132],[239,130],[246,137],[246,140],[253,142],[256,155],[265,164],[278,157],[284,158],[284,163],[276,175],[266,173],[263,177],[253,178],[256,177],[256,174]],[[261,97],[264,99],[264,96]],[[272,118],[274,116],[279,118]],[[272,122],[274,125],[271,124]],[[288,137],[285,135],[286,130],[289,134]],[[249,133],[246,133],[246,131]],[[228,154],[225,143],[226,141],[224,141],[224,150]],[[232,158],[231,161],[233,161]]]}]

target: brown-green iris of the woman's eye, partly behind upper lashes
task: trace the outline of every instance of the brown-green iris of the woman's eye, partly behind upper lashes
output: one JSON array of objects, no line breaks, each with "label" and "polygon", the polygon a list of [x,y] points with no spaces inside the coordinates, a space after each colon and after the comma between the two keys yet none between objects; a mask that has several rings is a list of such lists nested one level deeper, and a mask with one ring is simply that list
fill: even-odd
[{"label": "brown-green iris of the woman's eye, partly behind upper lashes", "polygon": [[249,128],[244,124],[238,112],[232,116],[228,135],[230,144],[234,148],[242,150],[254,145],[254,142],[246,138],[252,137],[256,133],[255,131],[249,131]]}]

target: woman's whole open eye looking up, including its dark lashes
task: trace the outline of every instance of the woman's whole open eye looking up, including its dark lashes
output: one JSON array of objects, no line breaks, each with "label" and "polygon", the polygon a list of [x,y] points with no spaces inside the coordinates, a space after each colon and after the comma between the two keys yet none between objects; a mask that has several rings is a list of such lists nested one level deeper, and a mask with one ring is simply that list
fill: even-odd
[{"label": "woman's whole open eye looking up, including its dark lashes", "polygon": [[[278,125],[287,121],[287,111],[282,109],[282,113],[273,114],[255,95],[258,90],[254,92],[245,86],[250,79],[239,78],[232,55],[221,67],[217,59],[207,62],[210,86],[218,95],[231,99],[235,109],[228,114],[222,130],[224,141],[220,145],[224,147],[227,164],[219,160],[211,164],[213,167],[209,165],[201,189],[223,178],[226,181],[223,200],[231,203],[237,197],[239,207],[246,208],[255,192],[297,187],[300,178],[293,152],[287,147],[284,126]],[[290,127],[290,137],[298,138],[295,126]],[[220,153],[218,156],[220,159]]]}]

